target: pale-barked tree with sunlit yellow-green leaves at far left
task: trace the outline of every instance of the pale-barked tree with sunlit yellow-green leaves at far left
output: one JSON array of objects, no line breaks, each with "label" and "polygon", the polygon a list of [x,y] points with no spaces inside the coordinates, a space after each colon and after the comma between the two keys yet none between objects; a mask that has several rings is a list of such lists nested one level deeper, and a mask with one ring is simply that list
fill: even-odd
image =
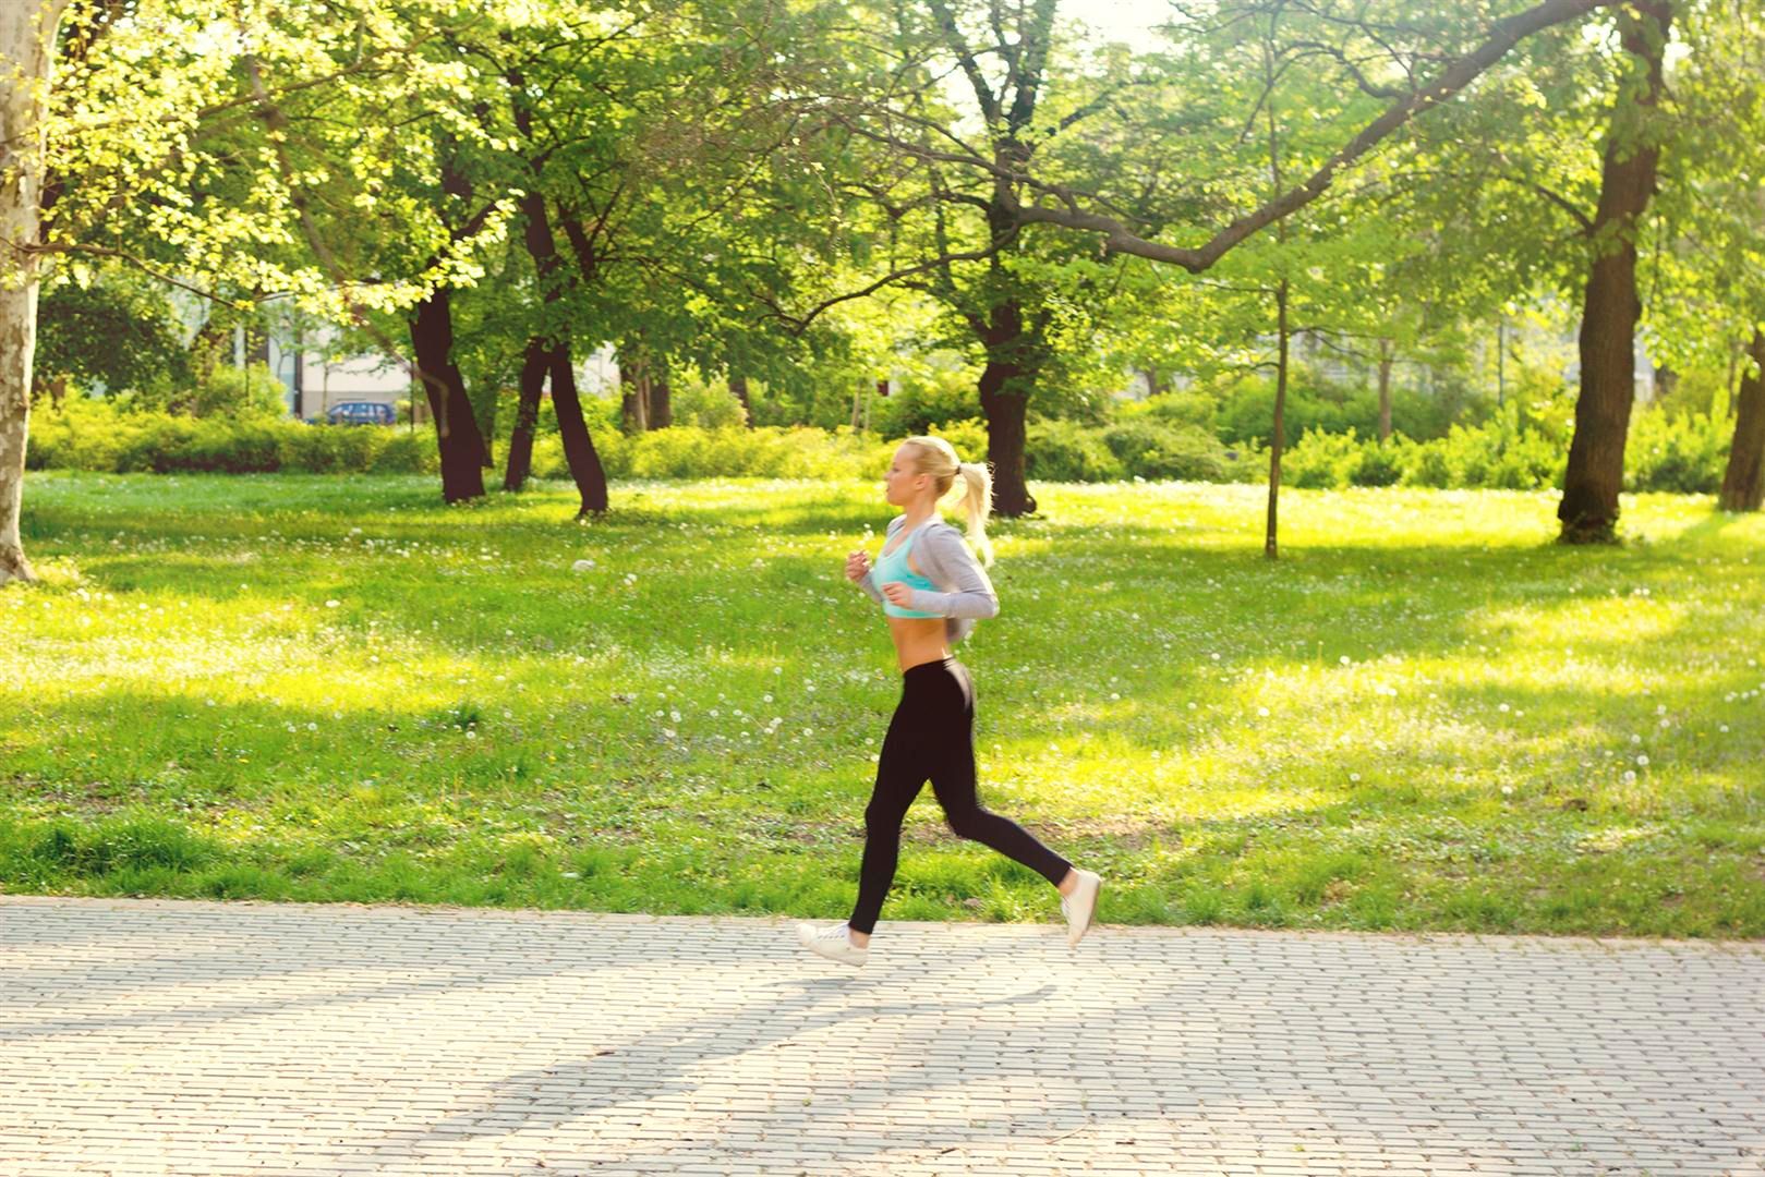
[{"label": "pale-barked tree with sunlit yellow-green leaves at far left", "polygon": [[[12,83],[0,101],[0,579],[28,575],[18,514],[44,259],[108,258],[205,296],[291,295],[334,321],[424,302],[501,236],[505,201],[475,233],[441,235],[427,265],[346,266],[332,242],[374,219],[404,240],[438,236],[381,199],[383,171],[409,146],[402,115],[459,88],[455,64],[418,49],[473,19],[443,0],[0,5]],[[473,134],[468,118],[454,131]]]}]

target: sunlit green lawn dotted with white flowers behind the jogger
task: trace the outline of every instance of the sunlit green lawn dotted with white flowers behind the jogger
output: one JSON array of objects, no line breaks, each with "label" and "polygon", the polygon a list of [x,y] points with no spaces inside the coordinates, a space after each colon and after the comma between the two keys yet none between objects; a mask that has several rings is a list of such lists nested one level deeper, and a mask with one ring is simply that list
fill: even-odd
[{"label": "sunlit green lawn dotted with white flowers behind the jogger", "polygon": [[[1765,519],[1551,494],[1038,487],[960,653],[983,799],[1103,918],[1765,935]],[[845,914],[886,632],[874,485],[32,475],[0,886]],[[874,540],[872,540],[874,547]],[[572,563],[593,559],[586,572]],[[884,918],[1048,919],[909,815]]]}]

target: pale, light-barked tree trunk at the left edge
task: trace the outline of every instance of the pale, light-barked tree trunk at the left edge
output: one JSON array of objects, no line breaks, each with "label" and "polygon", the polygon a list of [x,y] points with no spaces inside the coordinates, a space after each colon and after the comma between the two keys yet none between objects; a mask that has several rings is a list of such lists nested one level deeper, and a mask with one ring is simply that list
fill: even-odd
[{"label": "pale, light-barked tree trunk at the left edge", "polygon": [[[37,355],[37,245],[42,198],[42,102],[53,74],[55,32],[67,0],[0,4],[0,584],[35,581],[25,559],[25,446],[30,445],[30,369]],[[18,150],[12,150],[14,145]]]}]

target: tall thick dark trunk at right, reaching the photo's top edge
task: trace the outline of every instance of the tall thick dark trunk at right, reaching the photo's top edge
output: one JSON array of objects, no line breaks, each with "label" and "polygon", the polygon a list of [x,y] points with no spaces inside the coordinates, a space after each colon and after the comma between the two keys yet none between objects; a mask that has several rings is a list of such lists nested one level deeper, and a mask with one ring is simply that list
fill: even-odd
[{"label": "tall thick dark trunk at right, reaching the photo's top edge", "polygon": [[1636,395],[1636,229],[1656,189],[1661,157],[1649,125],[1661,97],[1661,58],[1671,0],[1633,0],[1622,12],[1622,41],[1640,58],[1640,94],[1620,92],[1601,166],[1599,210],[1594,215],[1594,265],[1581,307],[1581,392],[1574,402],[1574,438],[1564,473],[1560,538],[1566,544],[1610,544],[1617,538],[1619,491],[1624,485],[1624,439]]}]

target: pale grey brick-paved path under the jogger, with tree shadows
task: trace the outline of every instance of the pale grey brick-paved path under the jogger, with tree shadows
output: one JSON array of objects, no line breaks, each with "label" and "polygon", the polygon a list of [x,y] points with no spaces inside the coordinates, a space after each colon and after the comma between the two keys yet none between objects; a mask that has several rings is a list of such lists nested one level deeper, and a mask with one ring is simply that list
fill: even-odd
[{"label": "pale grey brick-paved path under the jogger, with tree shadows", "polygon": [[0,1173],[1754,1173],[1765,944],[0,898]]}]

